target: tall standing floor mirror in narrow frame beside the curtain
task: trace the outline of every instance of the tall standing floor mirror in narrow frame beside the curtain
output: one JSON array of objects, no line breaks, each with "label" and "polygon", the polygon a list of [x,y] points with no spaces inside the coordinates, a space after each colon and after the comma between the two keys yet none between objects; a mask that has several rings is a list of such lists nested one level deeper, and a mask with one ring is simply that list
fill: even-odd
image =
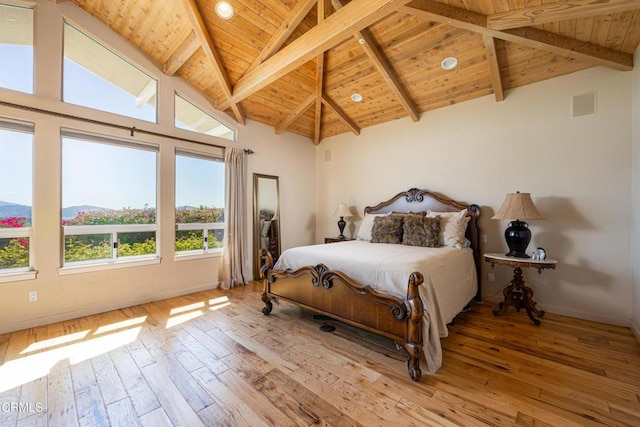
[{"label": "tall standing floor mirror in narrow frame beside the curtain", "polygon": [[253,277],[260,277],[258,251],[268,249],[274,262],[280,256],[280,200],[278,177],[253,174]]}]

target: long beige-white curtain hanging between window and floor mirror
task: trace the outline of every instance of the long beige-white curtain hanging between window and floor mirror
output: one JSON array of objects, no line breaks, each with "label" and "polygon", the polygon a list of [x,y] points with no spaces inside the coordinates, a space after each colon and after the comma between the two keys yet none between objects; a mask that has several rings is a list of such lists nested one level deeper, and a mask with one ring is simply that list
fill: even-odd
[{"label": "long beige-white curtain hanging between window and floor mirror", "polygon": [[225,228],[222,256],[222,289],[245,284],[244,260],[247,232],[246,154],[241,148],[225,148]]}]

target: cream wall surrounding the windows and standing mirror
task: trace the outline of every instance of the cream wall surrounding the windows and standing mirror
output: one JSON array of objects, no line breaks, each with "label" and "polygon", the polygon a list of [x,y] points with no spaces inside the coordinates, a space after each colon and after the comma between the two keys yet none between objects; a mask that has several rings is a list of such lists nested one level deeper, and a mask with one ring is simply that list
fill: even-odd
[{"label": "cream wall surrounding the windows and standing mirror", "polygon": [[[159,79],[159,124],[123,118],[114,114],[68,105],[60,102],[62,70],[62,17],[75,23],[115,48],[139,67]],[[255,122],[239,126],[229,117],[213,110],[221,120],[238,129],[238,141],[195,134],[173,126],[173,93],[179,90],[201,107],[209,105],[202,95],[184,81],[168,77],[141,55],[127,41],[102,25],[71,2],[54,4],[41,0],[36,16],[36,96],[0,89],[0,99],[64,114],[87,117],[104,122],[136,126],[161,134],[175,135],[209,144],[251,148],[255,154],[248,158],[247,217],[252,215],[252,173],[279,175],[283,211],[282,241],[284,246],[310,243],[315,227],[314,146],[307,138],[292,134],[275,135],[273,129]],[[0,118],[12,118],[35,123],[33,261],[38,271],[35,280],[1,283],[0,333],[21,328],[70,319],[81,315],[128,307],[134,304],[186,294],[216,286],[219,282],[221,258],[208,257],[176,260],[173,251],[175,224],[174,151],[188,148],[202,152],[219,149],[151,137],[141,133],[134,138],[128,131],[114,131],[86,122],[61,119],[20,109],[0,106]],[[161,262],[154,265],[117,268],[106,271],[61,275],[61,146],[60,128],[68,127],[87,132],[117,136],[132,141],[144,141],[160,146],[159,157],[159,224]],[[96,159],[91,159],[95,161]],[[247,238],[251,246],[251,235]],[[252,253],[248,253],[247,272],[251,272]],[[249,277],[250,278],[250,277]],[[37,290],[39,301],[27,302],[27,294]]]}]

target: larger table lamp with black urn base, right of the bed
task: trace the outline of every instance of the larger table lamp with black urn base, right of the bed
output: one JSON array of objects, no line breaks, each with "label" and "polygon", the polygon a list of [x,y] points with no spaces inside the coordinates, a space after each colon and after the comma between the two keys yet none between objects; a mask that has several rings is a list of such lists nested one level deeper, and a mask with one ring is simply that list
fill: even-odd
[{"label": "larger table lamp with black urn base, right of the bed", "polygon": [[524,219],[546,219],[533,204],[529,193],[507,194],[504,203],[492,219],[511,219],[509,227],[504,231],[504,238],[509,246],[506,256],[515,258],[529,258],[526,250],[531,241],[531,230]]}]

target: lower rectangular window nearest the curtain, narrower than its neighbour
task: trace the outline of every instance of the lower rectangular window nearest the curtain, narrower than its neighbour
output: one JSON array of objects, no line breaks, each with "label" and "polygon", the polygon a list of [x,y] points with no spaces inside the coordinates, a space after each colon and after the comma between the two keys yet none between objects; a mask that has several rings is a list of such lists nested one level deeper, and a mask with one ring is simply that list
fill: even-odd
[{"label": "lower rectangular window nearest the curtain, narrower than its neighbour", "polygon": [[224,238],[224,162],[176,153],[176,252],[219,251]]}]

